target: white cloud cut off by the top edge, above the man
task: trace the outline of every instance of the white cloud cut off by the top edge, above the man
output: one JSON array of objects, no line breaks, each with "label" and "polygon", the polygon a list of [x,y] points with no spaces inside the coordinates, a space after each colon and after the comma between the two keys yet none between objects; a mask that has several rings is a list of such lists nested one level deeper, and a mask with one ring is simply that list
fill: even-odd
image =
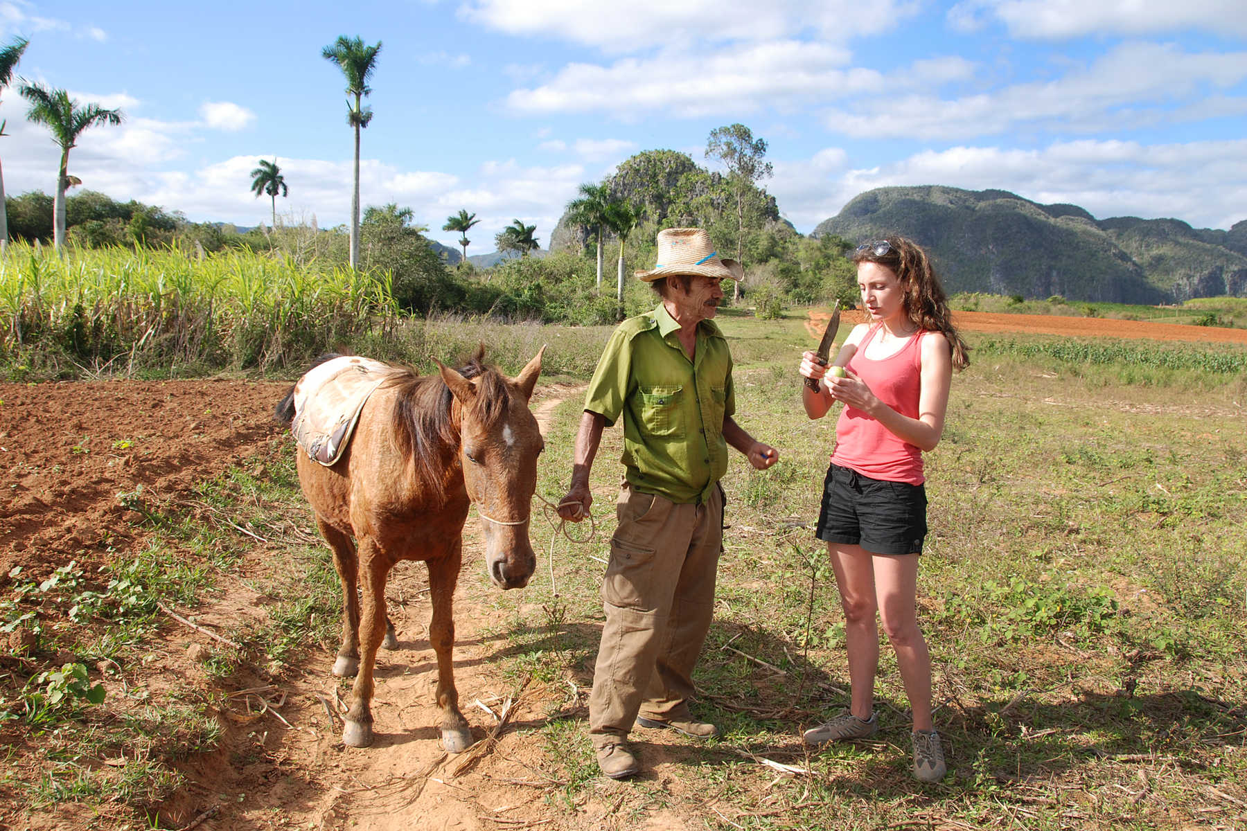
[{"label": "white cloud cut off by the top edge, above the man", "polygon": [[[556,37],[605,52],[700,42],[786,39],[816,30],[824,40],[888,31],[917,10],[905,0],[470,0],[461,19],[516,36]],[[848,21],[848,22],[847,22]]]}]

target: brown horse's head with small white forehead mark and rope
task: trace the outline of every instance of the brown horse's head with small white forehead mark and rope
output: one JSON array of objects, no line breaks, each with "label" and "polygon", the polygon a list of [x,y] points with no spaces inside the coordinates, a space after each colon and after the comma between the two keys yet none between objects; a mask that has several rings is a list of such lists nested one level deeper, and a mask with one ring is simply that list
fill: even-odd
[{"label": "brown horse's head with small white forehead mark and rope", "polygon": [[529,399],[544,351],[545,346],[514,379],[493,370],[469,379],[439,364],[461,414],[459,455],[468,496],[485,531],[485,563],[501,588],[527,586],[537,563],[529,517],[545,441]]}]

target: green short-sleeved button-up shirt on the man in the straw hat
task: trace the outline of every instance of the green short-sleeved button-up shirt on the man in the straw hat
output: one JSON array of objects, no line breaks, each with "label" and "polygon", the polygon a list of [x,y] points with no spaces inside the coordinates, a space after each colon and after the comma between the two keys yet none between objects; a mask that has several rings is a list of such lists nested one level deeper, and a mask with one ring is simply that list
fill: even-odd
[{"label": "green short-sleeved button-up shirt on the man in the straw hat", "polygon": [[712,320],[697,324],[688,360],[677,324],[661,303],[611,335],[585,409],[614,425],[624,416],[628,483],[672,502],[703,502],[727,472],[723,419],[736,412],[732,356]]}]

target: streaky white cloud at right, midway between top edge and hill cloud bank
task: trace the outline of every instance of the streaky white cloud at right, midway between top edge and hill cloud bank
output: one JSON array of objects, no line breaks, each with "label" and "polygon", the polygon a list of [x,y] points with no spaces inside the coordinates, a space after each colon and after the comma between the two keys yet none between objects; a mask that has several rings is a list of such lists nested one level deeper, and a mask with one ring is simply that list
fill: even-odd
[{"label": "streaky white cloud at right, midway between top edge and hill cloud bank", "polygon": [[[1247,100],[1218,96],[1247,78],[1247,52],[1183,52],[1172,45],[1122,44],[1084,71],[960,98],[898,95],[826,115],[829,130],[858,137],[956,140],[1024,123],[1084,132],[1235,115]],[[1211,110],[1211,112],[1210,112]]]}]

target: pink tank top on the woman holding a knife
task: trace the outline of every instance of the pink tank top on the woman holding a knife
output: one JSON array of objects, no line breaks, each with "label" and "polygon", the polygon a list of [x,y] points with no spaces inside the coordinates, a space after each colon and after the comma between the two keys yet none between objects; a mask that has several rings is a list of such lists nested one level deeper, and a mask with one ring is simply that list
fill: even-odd
[{"label": "pink tank top on the woman holding a knife", "polygon": [[[880,401],[904,416],[917,419],[918,397],[922,392],[919,344],[927,331],[910,338],[895,355],[872,360],[865,356],[865,348],[878,330],[878,325],[870,328],[848,368],[865,381]],[[927,481],[923,476],[923,451],[917,445],[910,445],[864,411],[848,405],[835,422],[832,462],[888,482],[922,485]]]}]

